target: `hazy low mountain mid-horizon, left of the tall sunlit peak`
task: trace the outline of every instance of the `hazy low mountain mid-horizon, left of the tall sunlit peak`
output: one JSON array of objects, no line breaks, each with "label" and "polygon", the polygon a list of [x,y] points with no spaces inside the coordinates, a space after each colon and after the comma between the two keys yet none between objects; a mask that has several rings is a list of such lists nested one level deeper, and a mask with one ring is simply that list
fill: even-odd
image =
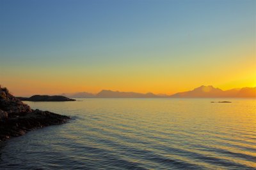
[{"label": "hazy low mountain mid-horizon, left of the tall sunlit peak", "polygon": [[118,92],[111,90],[102,90],[95,97],[98,98],[153,98],[159,97],[152,93],[141,94],[136,92]]}]

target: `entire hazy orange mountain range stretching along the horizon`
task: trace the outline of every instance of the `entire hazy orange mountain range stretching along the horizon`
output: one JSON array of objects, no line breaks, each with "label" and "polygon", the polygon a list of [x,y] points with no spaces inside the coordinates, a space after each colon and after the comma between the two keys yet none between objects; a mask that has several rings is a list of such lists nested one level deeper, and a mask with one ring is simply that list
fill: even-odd
[{"label": "entire hazy orange mountain range stretching along the horizon", "polygon": [[102,90],[97,94],[88,92],[77,92],[74,94],[63,93],[61,96],[70,98],[202,98],[202,97],[256,97],[256,87],[244,87],[241,89],[221,90],[211,85],[202,85],[187,92],[179,92],[173,95],[157,95],[148,92],[141,94],[136,92],[119,92]]}]

